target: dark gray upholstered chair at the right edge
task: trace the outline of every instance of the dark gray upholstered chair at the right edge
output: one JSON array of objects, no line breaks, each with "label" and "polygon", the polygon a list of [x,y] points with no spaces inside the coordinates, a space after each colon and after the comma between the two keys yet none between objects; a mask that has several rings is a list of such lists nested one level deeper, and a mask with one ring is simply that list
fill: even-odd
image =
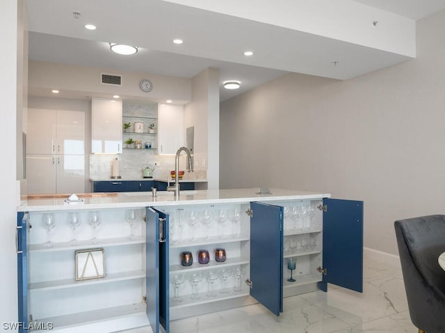
[{"label": "dark gray upholstered chair at the right edge", "polygon": [[412,323],[419,333],[445,332],[445,271],[437,258],[445,252],[445,215],[394,223]]}]

